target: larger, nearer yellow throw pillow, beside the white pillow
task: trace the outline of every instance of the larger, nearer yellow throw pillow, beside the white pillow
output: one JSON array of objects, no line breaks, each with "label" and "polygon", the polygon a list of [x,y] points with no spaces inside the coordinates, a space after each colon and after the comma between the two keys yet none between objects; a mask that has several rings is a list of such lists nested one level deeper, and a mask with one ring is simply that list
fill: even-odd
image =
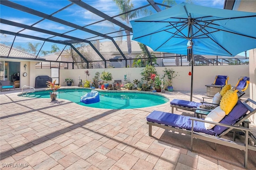
[{"label": "larger, nearer yellow throw pillow, beside the white pillow", "polygon": [[226,115],[232,111],[238,101],[238,95],[236,91],[228,90],[221,98],[220,109],[225,111]]}]

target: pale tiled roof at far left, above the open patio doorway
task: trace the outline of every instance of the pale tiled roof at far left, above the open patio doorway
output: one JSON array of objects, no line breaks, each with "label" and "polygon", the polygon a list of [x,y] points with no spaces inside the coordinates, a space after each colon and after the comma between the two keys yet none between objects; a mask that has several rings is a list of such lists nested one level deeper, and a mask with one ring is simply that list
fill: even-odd
[{"label": "pale tiled roof at far left, above the open patio doorway", "polygon": [[[36,55],[32,53],[28,53],[26,51],[22,51],[20,49],[12,47],[12,50],[10,51],[10,46],[4,45],[0,43],[0,57],[3,58],[17,58],[17,59],[33,59],[33,60],[45,60],[42,57],[36,57]],[[10,54],[9,54],[10,52]],[[9,56],[8,56],[9,54]]]}]

